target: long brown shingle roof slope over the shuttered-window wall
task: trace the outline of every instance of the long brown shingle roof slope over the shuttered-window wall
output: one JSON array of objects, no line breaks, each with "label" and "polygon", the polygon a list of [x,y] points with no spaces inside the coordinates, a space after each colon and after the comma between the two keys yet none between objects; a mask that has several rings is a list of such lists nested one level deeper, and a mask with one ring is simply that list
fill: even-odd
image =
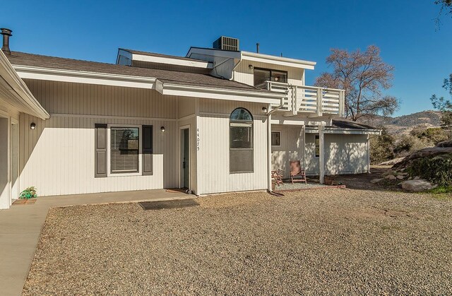
[{"label": "long brown shingle roof slope over the shuttered-window wall", "polygon": [[50,69],[64,69],[72,71],[88,71],[96,73],[112,73],[128,76],[141,76],[157,78],[164,83],[179,85],[196,85],[206,88],[227,88],[234,90],[251,90],[256,92],[268,92],[258,90],[251,85],[230,81],[202,73],[189,73],[181,71],[169,71],[160,69],[147,69],[117,64],[100,63],[97,61],[83,61],[78,59],[66,59],[61,57],[49,57],[39,54],[27,54],[24,52],[11,52],[7,55],[13,65],[35,66]]}]

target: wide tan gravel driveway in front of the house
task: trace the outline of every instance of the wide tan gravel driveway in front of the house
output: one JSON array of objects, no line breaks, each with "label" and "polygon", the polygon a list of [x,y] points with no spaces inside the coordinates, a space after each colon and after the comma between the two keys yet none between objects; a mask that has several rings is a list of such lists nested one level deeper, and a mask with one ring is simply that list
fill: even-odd
[{"label": "wide tan gravel driveway in front of the house", "polygon": [[54,208],[23,295],[452,294],[452,201],[352,189]]}]

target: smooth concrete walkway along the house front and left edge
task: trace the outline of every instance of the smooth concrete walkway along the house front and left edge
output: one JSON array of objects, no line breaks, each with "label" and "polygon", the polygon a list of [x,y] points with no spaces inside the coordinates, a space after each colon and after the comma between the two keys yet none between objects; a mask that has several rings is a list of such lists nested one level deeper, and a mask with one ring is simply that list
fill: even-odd
[{"label": "smooth concrete walkway along the house front and left edge", "polygon": [[49,208],[94,203],[165,201],[194,198],[165,189],[39,197],[34,204],[0,211],[0,294],[20,295],[35,256],[37,242]]}]

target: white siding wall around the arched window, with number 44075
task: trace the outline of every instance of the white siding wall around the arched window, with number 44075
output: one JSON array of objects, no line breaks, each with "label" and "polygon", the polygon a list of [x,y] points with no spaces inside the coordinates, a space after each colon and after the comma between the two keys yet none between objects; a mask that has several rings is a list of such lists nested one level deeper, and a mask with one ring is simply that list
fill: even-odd
[{"label": "white siding wall around the arched window, with number 44075", "polygon": [[[256,103],[200,99],[198,129],[198,194],[266,189],[267,161],[266,116]],[[244,107],[254,118],[254,172],[230,174],[229,118]]]}]

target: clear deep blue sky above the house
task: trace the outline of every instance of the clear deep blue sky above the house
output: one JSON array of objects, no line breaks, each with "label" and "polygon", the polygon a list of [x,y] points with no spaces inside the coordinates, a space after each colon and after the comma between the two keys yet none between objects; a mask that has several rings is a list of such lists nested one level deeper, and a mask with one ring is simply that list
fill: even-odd
[{"label": "clear deep blue sky above the house", "polygon": [[434,0],[392,1],[9,1],[1,28],[11,28],[11,49],[114,63],[125,47],[184,56],[210,47],[220,35],[237,37],[243,50],[317,61],[307,84],[330,71],[333,47],[377,45],[396,67],[396,115],[432,109],[429,97],[447,95],[452,73],[452,17]]}]

